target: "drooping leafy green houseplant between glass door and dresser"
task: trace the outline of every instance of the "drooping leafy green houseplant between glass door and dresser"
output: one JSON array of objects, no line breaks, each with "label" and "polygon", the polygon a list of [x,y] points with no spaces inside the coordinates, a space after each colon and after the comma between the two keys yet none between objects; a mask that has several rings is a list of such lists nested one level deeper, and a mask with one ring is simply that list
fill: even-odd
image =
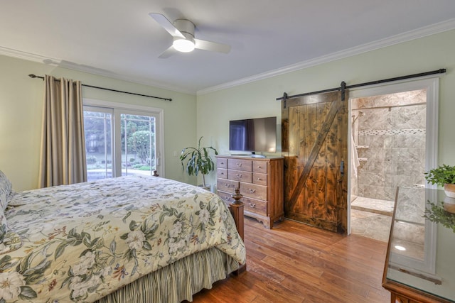
[{"label": "drooping leafy green houseplant between glass door and dresser", "polygon": [[200,141],[202,141],[203,137],[199,138],[198,147],[187,147],[183,148],[182,153],[180,155],[180,160],[182,162],[183,170],[190,176],[197,176],[200,172],[202,174],[202,183],[203,187],[205,186],[205,175],[209,172],[215,170],[215,162],[213,162],[212,158],[210,158],[210,150],[218,155],[218,151],[213,148],[212,146],[208,147],[200,147]]}]

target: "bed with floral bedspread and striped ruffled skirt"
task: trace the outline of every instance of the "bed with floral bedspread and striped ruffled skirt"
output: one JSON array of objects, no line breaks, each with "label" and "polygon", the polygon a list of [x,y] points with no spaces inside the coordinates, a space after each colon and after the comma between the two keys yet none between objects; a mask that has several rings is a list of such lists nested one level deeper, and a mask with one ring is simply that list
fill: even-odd
[{"label": "bed with floral bedspread and striped ruffled skirt", "polygon": [[228,207],[134,175],[14,192],[0,172],[0,303],[181,302],[245,264]]}]

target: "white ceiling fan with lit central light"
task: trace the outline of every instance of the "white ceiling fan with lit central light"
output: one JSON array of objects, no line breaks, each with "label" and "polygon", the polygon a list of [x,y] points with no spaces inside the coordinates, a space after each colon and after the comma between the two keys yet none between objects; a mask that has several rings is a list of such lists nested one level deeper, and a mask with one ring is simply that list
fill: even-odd
[{"label": "white ceiling fan with lit central light", "polygon": [[149,13],[149,16],[154,18],[173,37],[171,47],[159,55],[160,58],[167,58],[177,52],[189,53],[195,48],[226,54],[230,52],[230,45],[194,38],[196,26],[187,19],[177,19],[171,23],[161,13]]}]

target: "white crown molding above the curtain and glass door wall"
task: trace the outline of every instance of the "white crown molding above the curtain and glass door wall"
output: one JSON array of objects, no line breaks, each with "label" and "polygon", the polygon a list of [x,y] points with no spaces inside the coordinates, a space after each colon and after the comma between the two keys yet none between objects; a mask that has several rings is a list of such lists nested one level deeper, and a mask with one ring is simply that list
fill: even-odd
[{"label": "white crown molding above the curtain and glass door wall", "polygon": [[44,57],[41,55],[26,53],[21,50],[13,50],[11,48],[4,48],[1,46],[0,46],[0,55],[5,55],[7,57],[15,57],[18,59],[28,60],[28,61],[32,61],[32,62],[38,62],[41,64],[51,65],[51,66],[55,66],[55,67],[63,67],[63,68],[67,68],[68,70],[76,70],[78,72],[87,72],[92,75],[109,77],[109,78],[122,80],[122,81],[126,81],[126,82],[132,82],[135,84],[143,84],[143,85],[146,85],[149,87],[151,86],[151,87],[156,87],[159,89],[167,89],[167,90],[171,90],[173,92],[181,92],[183,94],[192,94],[192,95],[196,94],[196,92],[191,91],[191,90],[181,89],[181,87],[169,86],[169,85],[162,84],[159,82],[153,82],[150,79],[119,75],[114,72],[109,72],[108,70],[102,70],[102,69],[90,67],[87,65],[78,65],[76,63],[65,61],[65,60],[59,60],[59,59],[55,59],[55,58],[51,58],[51,57]]}]

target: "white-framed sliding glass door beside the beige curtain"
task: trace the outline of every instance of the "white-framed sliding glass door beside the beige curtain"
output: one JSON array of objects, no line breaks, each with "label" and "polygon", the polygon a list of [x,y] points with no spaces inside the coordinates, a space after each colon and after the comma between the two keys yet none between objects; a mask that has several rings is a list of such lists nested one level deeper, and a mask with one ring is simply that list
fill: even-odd
[{"label": "white-framed sliding glass door beside the beige curtain", "polygon": [[152,111],[84,106],[87,180],[161,172],[158,121]]}]

